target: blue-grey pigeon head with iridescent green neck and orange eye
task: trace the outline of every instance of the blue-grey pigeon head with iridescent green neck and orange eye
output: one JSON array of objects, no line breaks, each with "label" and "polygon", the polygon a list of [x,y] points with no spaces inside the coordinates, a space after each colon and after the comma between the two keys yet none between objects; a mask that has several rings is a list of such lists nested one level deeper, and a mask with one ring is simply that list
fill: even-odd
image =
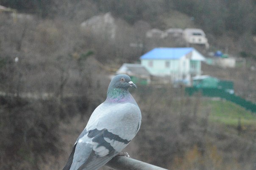
[{"label": "blue-grey pigeon head with iridescent green neck and orange eye", "polygon": [[119,74],[115,76],[109,84],[107,100],[125,101],[125,99],[132,98],[128,92],[128,88],[130,87],[137,88],[128,75]]}]

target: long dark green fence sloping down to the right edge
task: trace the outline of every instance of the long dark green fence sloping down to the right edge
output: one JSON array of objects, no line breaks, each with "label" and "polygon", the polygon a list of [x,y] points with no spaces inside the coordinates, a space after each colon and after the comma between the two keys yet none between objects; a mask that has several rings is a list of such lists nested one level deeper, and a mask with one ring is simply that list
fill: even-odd
[{"label": "long dark green fence sloping down to the right edge", "polygon": [[185,89],[186,94],[189,96],[192,96],[194,93],[200,92],[203,96],[206,97],[220,97],[222,99],[226,99],[228,101],[232,101],[235,104],[238,104],[242,107],[244,107],[247,110],[250,110],[251,112],[256,113],[256,104],[253,104],[250,101],[247,101],[239,96],[236,96],[234,94],[230,94],[226,92],[223,89],[217,89],[217,88],[186,88]]}]

